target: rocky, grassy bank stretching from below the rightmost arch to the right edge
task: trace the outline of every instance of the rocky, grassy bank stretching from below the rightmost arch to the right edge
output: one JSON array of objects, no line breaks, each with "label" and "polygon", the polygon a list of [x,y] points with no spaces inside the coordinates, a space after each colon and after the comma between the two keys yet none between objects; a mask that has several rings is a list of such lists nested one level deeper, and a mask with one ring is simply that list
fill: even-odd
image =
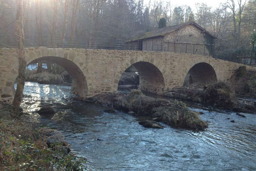
[{"label": "rocky, grassy bank stretching from below the rightmost arch to the right edge", "polygon": [[229,84],[225,82],[218,82],[204,88],[177,87],[164,92],[164,96],[193,101],[223,110],[256,114],[256,103],[252,100],[239,100]]}]

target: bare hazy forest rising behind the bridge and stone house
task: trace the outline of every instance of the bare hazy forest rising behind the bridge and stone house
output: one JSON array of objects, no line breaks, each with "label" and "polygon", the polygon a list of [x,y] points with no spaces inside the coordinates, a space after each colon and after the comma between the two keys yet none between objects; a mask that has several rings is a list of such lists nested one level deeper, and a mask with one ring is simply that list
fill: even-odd
[{"label": "bare hazy forest rising behind the bridge and stone house", "polygon": [[[224,1],[225,2],[225,1]],[[0,46],[15,44],[16,0],[0,1]],[[76,39],[114,41],[131,38],[158,28],[195,21],[218,37],[219,58],[255,58],[256,0],[228,0],[219,7],[207,4],[174,6],[169,1],[143,0],[24,0],[26,40],[45,40],[52,46]]]}]

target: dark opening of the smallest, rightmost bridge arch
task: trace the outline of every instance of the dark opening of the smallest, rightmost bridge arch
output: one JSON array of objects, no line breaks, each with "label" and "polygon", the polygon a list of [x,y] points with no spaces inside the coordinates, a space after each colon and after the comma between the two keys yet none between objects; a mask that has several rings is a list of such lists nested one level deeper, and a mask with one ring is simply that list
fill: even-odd
[{"label": "dark opening of the smallest, rightmost bridge arch", "polygon": [[188,71],[183,86],[202,88],[207,84],[217,82],[214,68],[205,62],[194,65]]}]

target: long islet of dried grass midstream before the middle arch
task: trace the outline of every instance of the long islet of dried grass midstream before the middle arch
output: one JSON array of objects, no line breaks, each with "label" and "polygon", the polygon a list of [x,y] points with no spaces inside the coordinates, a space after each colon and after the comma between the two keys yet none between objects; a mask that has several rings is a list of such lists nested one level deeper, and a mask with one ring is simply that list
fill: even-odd
[{"label": "long islet of dried grass midstream before the middle arch", "polygon": [[201,120],[196,112],[190,111],[183,102],[155,99],[142,94],[139,90],[132,90],[129,95],[118,96],[115,100],[115,106],[118,108],[144,116],[160,117],[165,124],[171,126],[196,130],[207,127],[207,123]]}]

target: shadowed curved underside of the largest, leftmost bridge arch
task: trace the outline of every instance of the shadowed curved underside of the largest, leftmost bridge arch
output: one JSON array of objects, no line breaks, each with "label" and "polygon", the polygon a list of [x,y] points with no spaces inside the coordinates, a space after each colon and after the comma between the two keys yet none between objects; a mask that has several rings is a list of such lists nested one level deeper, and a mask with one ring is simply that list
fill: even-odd
[{"label": "shadowed curved underside of the largest, leftmost bridge arch", "polygon": [[45,56],[31,61],[28,65],[40,61],[55,63],[63,67],[72,77],[72,93],[80,97],[86,97],[88,90],[86,78],[81,69],[75,63],[73,63],[71,60],[57,56]]}]

